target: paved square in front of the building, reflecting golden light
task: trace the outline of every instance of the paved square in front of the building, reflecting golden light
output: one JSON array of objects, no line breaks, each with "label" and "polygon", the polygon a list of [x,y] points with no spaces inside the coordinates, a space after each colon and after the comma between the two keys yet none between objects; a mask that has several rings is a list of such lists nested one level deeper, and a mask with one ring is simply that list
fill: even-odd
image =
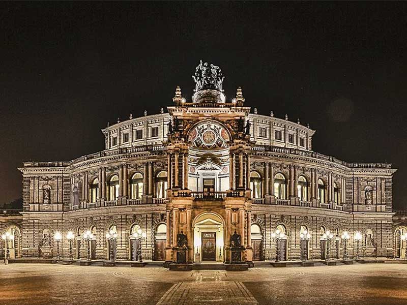
[{"label": "paved square in front of the building, reflecting golden light", "polygon": [[245,272],[48,264],[0,266],[0,304],[407,304],[407,264]]}]

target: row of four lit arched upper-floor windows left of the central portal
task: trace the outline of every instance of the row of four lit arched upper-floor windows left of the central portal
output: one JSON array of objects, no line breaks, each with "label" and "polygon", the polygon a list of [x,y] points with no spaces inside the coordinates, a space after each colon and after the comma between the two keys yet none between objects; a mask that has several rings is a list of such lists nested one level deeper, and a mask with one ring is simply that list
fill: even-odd
[{"label": "row of four lit arched upper-floor windows left of the central portal", "polygon": [[[143,175],[140,172],[134,173],[130,178],[130,199],[141,199],[143,195]],[[156,198],[165,198],[167,186],[167,172],[160,171],[156,178]],[[99,198],[99,179],[94,178],[89,186],[89,198],[91,202],[96,202]],[[119,176],[112,175],[107,182],[107,200],[117,200],[119,197]]]}]

